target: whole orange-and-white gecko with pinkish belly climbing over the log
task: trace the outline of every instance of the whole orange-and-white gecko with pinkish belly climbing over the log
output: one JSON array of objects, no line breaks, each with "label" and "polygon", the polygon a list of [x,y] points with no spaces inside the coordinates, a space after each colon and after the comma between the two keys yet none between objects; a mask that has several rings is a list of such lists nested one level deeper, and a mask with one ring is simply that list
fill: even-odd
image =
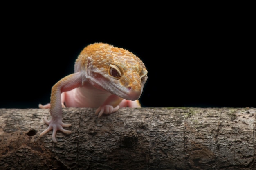
[{"label": "whole orange-and-white gecko with pinkish belly climbing over the log", "polygon": [[116,112],[120,107],[141,107],[139,98],[148,79],[144,63],[132,52],[107,43],[86,46],[74,64],[74,73],[65,76],[52,87],[50,103],[39,104],[49,109],[51,119],[40,137],[52,130],[52,141],[57,142],[56,132],[70,134],[63,127],[71,124],[62,121],[63,107],[95,108],[95,115]]}]

